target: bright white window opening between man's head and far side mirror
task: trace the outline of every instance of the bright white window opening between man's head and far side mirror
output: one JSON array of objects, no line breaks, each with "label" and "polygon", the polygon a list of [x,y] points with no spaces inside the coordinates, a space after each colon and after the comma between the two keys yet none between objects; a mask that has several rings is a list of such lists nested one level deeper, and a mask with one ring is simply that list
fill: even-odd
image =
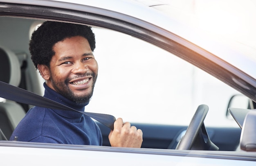
[{"label": "bright white window opening between man's head and far side mirror", "polygon": [[188,125],[198,105],[206,104],[206,125],[238,127],[225,116],[231,96],[240,94],[233,88],[140,39],[104,28],[93,31],[99,76],[85,111],[131,122]]}]

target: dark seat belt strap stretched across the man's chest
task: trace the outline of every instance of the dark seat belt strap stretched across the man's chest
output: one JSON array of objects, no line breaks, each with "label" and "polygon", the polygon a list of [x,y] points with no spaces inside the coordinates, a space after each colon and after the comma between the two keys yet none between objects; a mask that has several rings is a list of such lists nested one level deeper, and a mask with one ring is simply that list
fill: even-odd
[{"label": "dark seat belt strap stretched across the man's chest", "polygon": [[58,103],[54,100],[50,100],[49,98],[45,98],[38,94],[34,94],[20,87],[13,86],[2,81],[0,81],[0,97],[13,100],[18,103],[24,103],[38,107],[60,109],[65,111],[76,111],[97,120],[112,130],[114,129],[114,122],[116,118],[112,115],[77,111],[76,109],[67,107],[66,105]]}]

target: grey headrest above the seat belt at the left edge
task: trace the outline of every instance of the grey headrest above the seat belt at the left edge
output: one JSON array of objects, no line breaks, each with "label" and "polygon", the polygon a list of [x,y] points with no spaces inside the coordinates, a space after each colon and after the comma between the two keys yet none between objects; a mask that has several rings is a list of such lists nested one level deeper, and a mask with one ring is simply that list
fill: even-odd
[{"label": "grey headrest above the seat belt at the left edge", "polygon": [[21,79],[18,57],[8,48],[0,46],[0,81],[18,87]]}]

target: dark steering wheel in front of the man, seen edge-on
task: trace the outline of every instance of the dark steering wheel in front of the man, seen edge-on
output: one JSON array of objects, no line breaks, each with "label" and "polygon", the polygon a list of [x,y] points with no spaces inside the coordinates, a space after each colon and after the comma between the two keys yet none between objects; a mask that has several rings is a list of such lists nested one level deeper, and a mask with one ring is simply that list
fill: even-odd
[{"label": "dark steering wheel in front of the man, seen edge-on", "polygon": [[185,135],[177,144],[178,150],[218,150],[219,148],[211,142],[207,131],[204,127],[204,118],[207,115],[209,107],[207,105],[199,105],[198,109],[186,130]]}]

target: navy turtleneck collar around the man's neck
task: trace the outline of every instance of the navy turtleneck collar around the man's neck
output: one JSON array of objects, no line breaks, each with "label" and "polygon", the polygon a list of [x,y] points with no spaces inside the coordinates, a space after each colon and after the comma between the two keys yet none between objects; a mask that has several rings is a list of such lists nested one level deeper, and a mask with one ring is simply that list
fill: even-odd
[{"label": "navy turtleneck collar around the man's neck", "polygon": [[[76,109],[77,111],[84,111],[85,106],[89,104],[89,102],[82,103],[82,104],[77,104],[74,101],[65,98],[64,96],[62,96],[58,92],[52,90],[50,87],[48,87],[46,85],[46,83],[44,83],[43,85],[45,87],[44,97],[49,98],[51,100],[54,100],[54,101],[56,101],[58,103],[61,103],[63,105],[66,105],[67,107],[71,107],[73,109]],[[56,110],[54,110],[54,111],[56,111]],[[74,113],[77,113],[77,112],[74,112],[74,111],[61,111],[61,112],[63,112],[63,113],[61,113],[62,116],[66,116],[68,118],[72,118],[74,116]],[[60,113],[60,111],[58,111],[58,114],[59,113]],[[83,115],[83,114],[80,114],[80,113],[78,113],[78,114],[81,115],[81,116]]]}]

